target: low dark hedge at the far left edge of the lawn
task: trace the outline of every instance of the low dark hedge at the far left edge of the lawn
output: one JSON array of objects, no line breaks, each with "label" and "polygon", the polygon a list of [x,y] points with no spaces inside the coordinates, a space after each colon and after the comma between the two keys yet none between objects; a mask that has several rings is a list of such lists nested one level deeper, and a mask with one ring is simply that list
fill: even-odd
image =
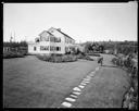
[{"label": "low dark hedge at the far left edge of the lawn", "polygon": [[4,52],[3,59],[10,59],[10,58],[23,58],[25,54],[21,52]]}]

